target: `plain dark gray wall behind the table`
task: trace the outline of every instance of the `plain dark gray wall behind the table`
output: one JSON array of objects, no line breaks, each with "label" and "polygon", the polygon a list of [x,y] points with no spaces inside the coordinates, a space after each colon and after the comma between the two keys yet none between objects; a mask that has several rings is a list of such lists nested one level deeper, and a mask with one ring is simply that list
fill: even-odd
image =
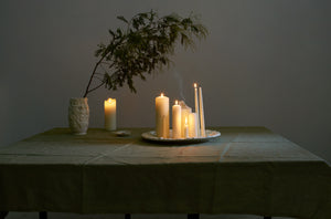
[{"label": "plain dark gray wall behind the table", "polygon": [[[118,125],[154,125],[153,98],[193,103],[203,86],[210,126],[266,126],[331,161],[331,1],[0,1],[0,145],[67,126],[70,97],[82,96],[97,43],[118,14],[154,9],[202,15],[210,36],[195,52],[128,88],[89,98],[90,126],[104,124],[103,101],[118,98]],[[182,93],[182,95],[181,95]]]}]

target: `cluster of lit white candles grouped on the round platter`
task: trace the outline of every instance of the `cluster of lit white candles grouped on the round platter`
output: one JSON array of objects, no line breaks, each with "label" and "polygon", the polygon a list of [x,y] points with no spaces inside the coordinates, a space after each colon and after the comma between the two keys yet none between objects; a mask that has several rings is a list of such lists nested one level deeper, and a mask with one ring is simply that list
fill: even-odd
[{"label": "cluster of lit white candles grouped on the round platter", "polygon": [[183,101],[175,101],[172,106],[172,133],[169,132],[169,97],[161,93],[156,97],[157,136],[162,138],[205,137],[202,88],[194,83],[195,112]]}]

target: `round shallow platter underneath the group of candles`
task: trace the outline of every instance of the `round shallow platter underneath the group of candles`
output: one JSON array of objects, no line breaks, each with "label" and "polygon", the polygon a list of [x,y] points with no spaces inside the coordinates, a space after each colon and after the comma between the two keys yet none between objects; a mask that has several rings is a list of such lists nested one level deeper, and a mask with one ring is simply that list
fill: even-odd
[{"label": "round shallow platter underneath the group of candles", "polygon": [[217,131],[206,129],[205,133],[206,133],[206,137],[173,139],[173,138],[171,138],[171,136],[172,136],[171,129],[169,132],[170,138],[157,137],[156,131],[150,131],[147,133],[142,133],[141,137],[146,140],[156,142],[156,143],[160,143],[160,144],[193,144],[193,143],[204,143],[204,142],[207,142],[210,139],[221,136],[221,133]]}]

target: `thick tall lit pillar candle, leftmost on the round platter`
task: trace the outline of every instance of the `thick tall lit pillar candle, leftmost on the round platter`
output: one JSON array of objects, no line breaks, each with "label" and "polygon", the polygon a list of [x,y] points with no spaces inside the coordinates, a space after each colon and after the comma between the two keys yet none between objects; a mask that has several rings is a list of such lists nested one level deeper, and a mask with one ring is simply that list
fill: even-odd
[{"label": "thick tall lit pillar candle, leftmost on the round platter", "polygon": [[169,137],[169,97],[161,93],[156,97],[156,122],[157,122],[157,136]]}]

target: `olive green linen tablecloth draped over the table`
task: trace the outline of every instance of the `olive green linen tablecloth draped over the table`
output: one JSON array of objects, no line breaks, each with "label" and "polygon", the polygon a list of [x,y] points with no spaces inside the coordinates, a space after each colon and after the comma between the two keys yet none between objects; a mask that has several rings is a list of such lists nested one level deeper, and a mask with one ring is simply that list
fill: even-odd
[{"label": "olive green linen tablecloth draped over the table", "polygon": [[169,146],[54,128],[0,148],[0,210],[331,218],[331,168],[264,127]]}]

